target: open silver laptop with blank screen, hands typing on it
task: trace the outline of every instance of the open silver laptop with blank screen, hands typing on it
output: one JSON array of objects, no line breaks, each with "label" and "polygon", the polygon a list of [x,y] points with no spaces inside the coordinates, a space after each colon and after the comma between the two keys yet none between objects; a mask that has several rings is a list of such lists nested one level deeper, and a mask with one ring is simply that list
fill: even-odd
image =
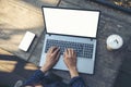
[{"label": "open silver laptop with blank screen, hands typing on it", "polygon": [[73,48],[78,55],[78,71],[93,74],[99,11],[49,7],[43,7],[41,10],[46,30],[39,66],[44,65],[48,49],[57,46],[61,53],[53,69],[68,71],[63,52],[67,48]]}]

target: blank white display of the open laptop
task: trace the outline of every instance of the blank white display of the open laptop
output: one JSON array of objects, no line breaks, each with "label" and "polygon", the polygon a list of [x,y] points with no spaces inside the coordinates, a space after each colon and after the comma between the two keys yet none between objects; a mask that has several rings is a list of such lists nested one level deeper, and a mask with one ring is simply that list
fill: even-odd
[{"label": "blank white display of the open laptop", "polygon": [[43,8],[47,33],[96,37],[98,11]]}]

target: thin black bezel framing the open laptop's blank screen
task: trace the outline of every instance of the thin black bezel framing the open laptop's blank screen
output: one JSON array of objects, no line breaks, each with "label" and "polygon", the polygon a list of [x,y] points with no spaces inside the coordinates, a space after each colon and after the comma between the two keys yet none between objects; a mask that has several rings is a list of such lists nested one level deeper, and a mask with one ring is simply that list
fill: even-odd
[{"label": "thin black bezel framing the open laptop's blank screen", "polygon": [[[45,14],[44,14],[44,8],[50,8],[50,9],[66,9],[66,10],[80,10],[80,11],[95,11],[95,12],[99,12],[98,15],[98,22],[97,22],[97,28],[96,28],[96,37],[86,37],[86,36],[76,36],[76,35],[66,35],[66,34],[56,34],[56,33],[48,33],[47,32],[47,27],[46,27],[46,18],[45,18]],[[100,20],[100,11],[99,10],[86,10],[86,9],[72,9],[72,8],[58,8],[58,7],[41,7],[41,11],[43,11],[43,17],[44,17],[44,26],[45,26],[45,32],[46,34],[49,35],[60,35],[60,36],[72,36],[72,37],[83,37],[83,38],[97,38],[97,33],[98,33],[98,26],[99,26],[99,20]]]}]

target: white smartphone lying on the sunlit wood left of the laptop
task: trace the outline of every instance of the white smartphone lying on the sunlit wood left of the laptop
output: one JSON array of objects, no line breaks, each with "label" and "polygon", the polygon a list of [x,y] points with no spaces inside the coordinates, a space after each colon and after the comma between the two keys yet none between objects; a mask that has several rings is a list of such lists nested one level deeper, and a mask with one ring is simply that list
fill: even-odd
[{"label": "white smartphone lying on the sunlit wood left of the laptop", "polygon": [[26,32],[21,44],[19,45],[19,49],[27,51],[34,38],[35,38],[34,33]]}]

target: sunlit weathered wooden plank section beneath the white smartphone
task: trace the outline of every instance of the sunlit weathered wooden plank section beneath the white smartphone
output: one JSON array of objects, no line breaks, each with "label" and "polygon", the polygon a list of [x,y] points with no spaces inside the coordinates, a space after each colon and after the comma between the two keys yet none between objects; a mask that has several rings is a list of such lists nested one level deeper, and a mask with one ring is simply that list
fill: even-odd
[{"label": "sunlit weathered wooden plank section beneath the white smartphone", "polygon": [[[55,7],[59,0],[0,0],[0,48],[27,60],[44,30],[41,5]],[[26,30],[36,34],[28,52],[17,49]]]}]

